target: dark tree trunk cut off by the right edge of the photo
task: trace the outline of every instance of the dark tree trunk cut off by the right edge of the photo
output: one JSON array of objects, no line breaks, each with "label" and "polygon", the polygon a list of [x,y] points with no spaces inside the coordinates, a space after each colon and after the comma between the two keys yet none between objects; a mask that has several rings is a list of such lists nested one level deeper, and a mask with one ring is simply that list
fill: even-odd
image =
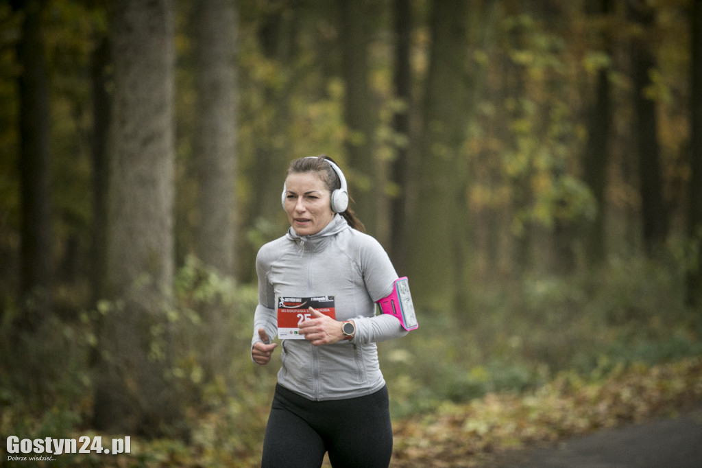
[{"label": "dark tree trunk cut off by the right edge of the photo", "polygon": [[687,232],[690,240],[696,242],[696,259],[687,275],[687,303],[699,307],[702,305],[702,0],[693,2],[691,23],[692,142]]}]

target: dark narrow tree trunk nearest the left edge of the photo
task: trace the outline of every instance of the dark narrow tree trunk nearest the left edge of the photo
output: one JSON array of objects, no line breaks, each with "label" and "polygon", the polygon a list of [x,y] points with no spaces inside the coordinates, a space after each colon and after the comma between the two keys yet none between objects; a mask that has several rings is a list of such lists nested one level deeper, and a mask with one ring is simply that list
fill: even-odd
[{"label": "dark narrow tree trunk nearest the left edge of the photo", "polygon": [[51,227],[51,134],[41,12],[44,1],[15,2],[22,11],[18,59],[20,93],[20,186],[22,273],[20,325],[36,330],[51,313],[53,234]]}]

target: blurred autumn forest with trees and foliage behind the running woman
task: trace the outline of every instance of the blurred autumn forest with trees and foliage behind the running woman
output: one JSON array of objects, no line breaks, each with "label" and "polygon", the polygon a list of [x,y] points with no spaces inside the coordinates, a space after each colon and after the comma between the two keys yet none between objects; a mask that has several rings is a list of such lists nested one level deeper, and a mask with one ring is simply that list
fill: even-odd
[{"label": "blurred autumn forest with trees and foliage behind the running woman", "polygon": [[398,427],[700,356],[701,3],[0,3],[3,441],[255,466],[254,259],[320,153],[410,278]]}]

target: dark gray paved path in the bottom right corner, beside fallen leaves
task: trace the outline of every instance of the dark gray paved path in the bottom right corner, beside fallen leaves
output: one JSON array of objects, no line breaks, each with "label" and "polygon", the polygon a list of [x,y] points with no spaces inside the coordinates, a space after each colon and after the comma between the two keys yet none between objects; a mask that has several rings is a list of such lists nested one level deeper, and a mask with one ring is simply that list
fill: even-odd
[{"label": "dark gray paved path in the bottom right corner, beside fallen leaves", "polygon": [[702,468],[702,406],[658,419],[508,453],[499,468]]}]

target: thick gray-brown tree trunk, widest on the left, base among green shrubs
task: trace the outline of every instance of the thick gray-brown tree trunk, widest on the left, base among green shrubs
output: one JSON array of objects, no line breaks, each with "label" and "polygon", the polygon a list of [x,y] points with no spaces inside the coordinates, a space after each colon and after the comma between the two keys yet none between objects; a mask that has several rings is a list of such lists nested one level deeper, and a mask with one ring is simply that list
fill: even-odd
[{"label": "thick gray-brown tree trunk, widest on the left, base among green shrubs", "polygon": [[158,436],[180,420],[166,382],[173,282],[173,4],[114,4],[107,285],[96,429]]}]

